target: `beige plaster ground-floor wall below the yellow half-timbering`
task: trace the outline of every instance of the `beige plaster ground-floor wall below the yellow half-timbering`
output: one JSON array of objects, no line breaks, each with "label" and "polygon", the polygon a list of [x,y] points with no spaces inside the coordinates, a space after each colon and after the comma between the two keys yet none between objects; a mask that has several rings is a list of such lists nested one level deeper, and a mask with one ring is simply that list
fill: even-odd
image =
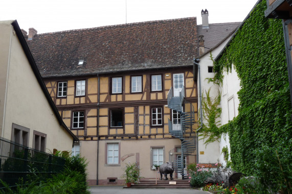
[{"label": "beige plaster ground-floor wall below the yellow half-timbering", "polygon": [[[124,161],[120,159],[119,166],[107,166],[105,164],[105,147],[106,143],[110,142],[119,142],[120,147],[120,157],[123,158],[126,155],[132,155],[127,157]],[[144,178],[155,178],[155,171],[151,171],[150,164],[150,149],[151,147],[164,147],[165,148],[165,161],[169,161],[169,151],[174,149],[174,147],[179,147],[181,141],[179,139],[142,139],[142,140],[103,140],[99,141],[99,166],[98,174],[99,180],[106,180],[108,177],[120,177],[123,175],[123,168],[127,162],[133,163],[138,161],[140,162],[141,176]],[[85,146],[85,145],[83,145]],[[87,145],[86,145],[87,146]],[[88,144],[89,146],[89,144]],[[82,148],[82,150],[88,150],[88,148]],[[90,149],[94,149],[90,147]],[[83,155],[87,158],[87,155]],[[194,159],[192,159],[194,161]],[[95,172],[88,172],[89,177],[94,177]]]}]

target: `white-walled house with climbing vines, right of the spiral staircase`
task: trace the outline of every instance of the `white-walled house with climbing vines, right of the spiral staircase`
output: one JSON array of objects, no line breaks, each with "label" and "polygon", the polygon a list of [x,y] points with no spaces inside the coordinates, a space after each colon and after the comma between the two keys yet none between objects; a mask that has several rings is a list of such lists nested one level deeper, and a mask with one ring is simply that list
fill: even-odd
[{"label": "white-walled house with climbing vines, right of the spiral staircase", "polygon": [[[210,98],[214,101],[217,96],[221,95],[221,102],[220,107],[222,108],[222,112],[220,115],[220,122],[218,125],[222,126],[227,124],[229,120],[232,120],[233,117],[237,116],[238,114],[238,95],[237,92],[240,89],[240,81],[237,77],[235,69],[232,67],[231,72],[224,71],[224,78],[222,84],[214,84],[213,82],[209,82],[208,78],[214,78],[214,70],[213,70],[213,60],[218,56],[220,51],[224,48],[224,46],[230,40],[232,34],[227,37],[225,40],[220,42],[217,46],[210,50],[208,53],[205,53],[200,56],[200,87],[201,87],[201,94],[202,98],[206,98],[206,92],[210,89]],[[211,60],[211,54],[212,59]],[[199,99],[200,107],[200,99]],[[204,110],[204,108],[203,108]],[[200,110],[199,110],[200,112]],[[204,114],[204,113],[203,113]],[[203,120],[203,123],[206,124],[206,120]],[[200,133],[199,133],[200,134]],[[230,152],[230,145],[229,145],[229,137],[228,134],[222,134],[221,139],[218,141],[214,141],[211,143],[206,144],[206,139],[201,139],[199,136],[198,140],[198,163],[204,164],[205,166],[208,164],[217,163],[219,160],[220,163],[226,165],[226,161],[224,160],[222,152],[223,147],[228,147]]]}]

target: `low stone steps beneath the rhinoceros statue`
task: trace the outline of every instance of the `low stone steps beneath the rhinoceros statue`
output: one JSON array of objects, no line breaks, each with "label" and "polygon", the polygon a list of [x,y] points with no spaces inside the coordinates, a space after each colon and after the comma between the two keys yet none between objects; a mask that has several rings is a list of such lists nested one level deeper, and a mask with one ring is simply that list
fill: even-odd
[{"label": "low stone steps beneath the rhinoceros statue", "polygon": [[[175,184],[169,184],[169,183]],[[131,187],[124,186],[124,188],[191,188],[189,180],[157,180],[157,184],[155,179],[147,179],[140,180],[139,184],[132,184]]]}]

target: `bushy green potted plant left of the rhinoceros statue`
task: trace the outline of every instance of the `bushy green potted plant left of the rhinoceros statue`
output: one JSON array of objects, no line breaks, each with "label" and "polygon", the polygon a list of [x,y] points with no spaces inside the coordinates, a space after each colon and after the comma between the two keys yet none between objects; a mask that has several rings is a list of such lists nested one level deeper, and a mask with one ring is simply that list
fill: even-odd
[{"label": "bushy green potted plant left of the rhinoceros statue", "polygon": [[131,186],[131,183],[137,183],[140,178],[140,168],[137,166],[137,163],[126,163],[126,166],[123,168],[124,174],[121,178],[125,178],[127,187]]}]

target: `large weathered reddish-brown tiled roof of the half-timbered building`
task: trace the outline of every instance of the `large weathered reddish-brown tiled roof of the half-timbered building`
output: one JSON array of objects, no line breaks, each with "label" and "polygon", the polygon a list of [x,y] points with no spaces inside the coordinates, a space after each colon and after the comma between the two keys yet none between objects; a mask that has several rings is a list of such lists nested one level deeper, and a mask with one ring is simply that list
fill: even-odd
[{"label": "large weathered reddish-brown tiled roof of the half-timbered building", "polygon": [[38,34],[28,45],[43,77],[186,66],[198,56],[196,17]]}]

